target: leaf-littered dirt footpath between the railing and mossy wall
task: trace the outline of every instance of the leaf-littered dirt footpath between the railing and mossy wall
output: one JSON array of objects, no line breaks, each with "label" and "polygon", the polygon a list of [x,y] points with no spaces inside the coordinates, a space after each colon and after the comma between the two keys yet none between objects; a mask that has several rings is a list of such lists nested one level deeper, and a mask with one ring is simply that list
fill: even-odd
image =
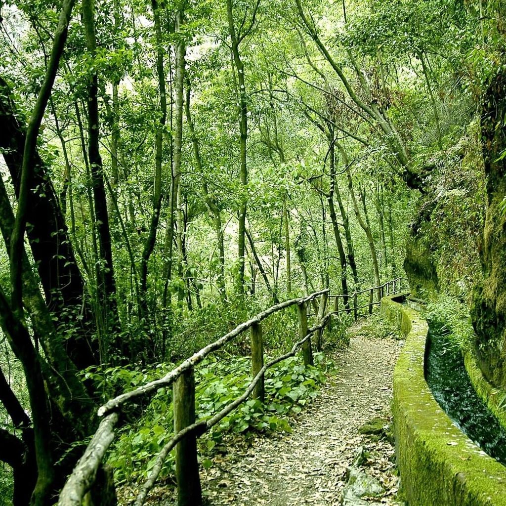
[{"label": "leaf-littered dirt footpath between the railing and mossy wall", "polygon": [[375,416],[390,419],[393,368],[401,343],[362,331],[368,323],[351,329],[350,347],[331,355],[336,372],[292,423],[292,434],[259,437],[203,471],[206,506],[341,504],[346,469],[360,446],[369,452],[366,472],[386,489],[376,501],[398,504],[392,444],[373,441],[358,429]]}]

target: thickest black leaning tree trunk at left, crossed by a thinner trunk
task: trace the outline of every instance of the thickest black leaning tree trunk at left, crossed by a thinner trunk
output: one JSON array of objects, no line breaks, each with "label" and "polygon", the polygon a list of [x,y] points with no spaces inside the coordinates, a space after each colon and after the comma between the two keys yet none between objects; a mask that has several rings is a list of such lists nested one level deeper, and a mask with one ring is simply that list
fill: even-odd
[{"label": "thickest black leaning tree trunk at left, crossed by a thinner trunk", "polygon": [[[9,168],[16,195],[19,196],[23,150],[26,139],[24,126],[18,123],[12,93],[0,78],[0,147]],[[49,310],[62,328],[78,329],[67,342],[67,350],[79,368],[96,363],[92,316],[83,302],[84,282],[77,267],[65,219],[49,178],[47,167],[38,152],[33,154],[33,171],[28,179],[30,205],[26,209],[28,240],[36,262]],[[79,316],[79,318],[77,318]],[[80,323],[79,323],[80,322]]]}]

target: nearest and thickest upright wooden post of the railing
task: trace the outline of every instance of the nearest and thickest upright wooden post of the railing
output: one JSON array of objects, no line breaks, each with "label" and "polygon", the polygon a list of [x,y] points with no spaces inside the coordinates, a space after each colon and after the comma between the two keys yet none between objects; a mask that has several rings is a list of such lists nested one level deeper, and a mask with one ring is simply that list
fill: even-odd
[{"label": "nearest and thickest upright wooden post of the railing", "polygon": [[[174,433],[195,423],[195,375],[193,367],[174,382]],[[200,506],[202,490],[197,462],[197,439],[188,435],[176,445],[178,506]]]}]

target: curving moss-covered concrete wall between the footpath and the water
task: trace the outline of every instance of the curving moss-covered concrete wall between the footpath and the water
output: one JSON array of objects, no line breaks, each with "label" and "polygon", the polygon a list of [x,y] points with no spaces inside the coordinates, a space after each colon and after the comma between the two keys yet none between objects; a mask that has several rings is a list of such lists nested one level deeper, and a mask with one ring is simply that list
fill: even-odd
[{"label": "curving moss-covered concrete wall between the footpath and the water", "polygon": [[406,338],[394,370],[393,415],[409,506],[506,506],[506,469],[453,425],[425,381],[427,322],[389,297],[381,310]]}]

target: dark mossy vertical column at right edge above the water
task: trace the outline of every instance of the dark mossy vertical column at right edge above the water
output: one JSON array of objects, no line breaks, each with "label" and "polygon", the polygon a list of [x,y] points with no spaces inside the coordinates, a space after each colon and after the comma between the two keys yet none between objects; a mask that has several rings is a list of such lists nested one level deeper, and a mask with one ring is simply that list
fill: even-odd
[{"label": "dark mossy vertical column at right edge above the water", "polygon": [[491,81],[482,106],[481,133],[487,177],[487,213],[480,248],[484,281],[474,292],[471,316],[484,374],[506,385],[506,70]]}]

